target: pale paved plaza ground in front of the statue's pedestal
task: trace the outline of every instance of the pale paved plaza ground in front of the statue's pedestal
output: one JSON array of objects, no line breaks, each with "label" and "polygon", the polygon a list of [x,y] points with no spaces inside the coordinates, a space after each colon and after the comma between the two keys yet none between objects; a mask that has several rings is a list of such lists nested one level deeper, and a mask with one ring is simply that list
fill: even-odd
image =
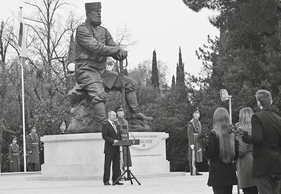
[{"label": "pale paved plaza ground in front of the statue's pedestal", "polygon": [[[169,176],[138,178],[141,185],[133,180],[122,181],[124,185],[104,186],[102,180],[36,180],[27,181],[26,176],[0,176],[0,194],[212,194],[208,187],[208,172],[202,176]],[[111,181],[110,181],[111,183]],[[237,187],[233,187],[237,194]]]}]

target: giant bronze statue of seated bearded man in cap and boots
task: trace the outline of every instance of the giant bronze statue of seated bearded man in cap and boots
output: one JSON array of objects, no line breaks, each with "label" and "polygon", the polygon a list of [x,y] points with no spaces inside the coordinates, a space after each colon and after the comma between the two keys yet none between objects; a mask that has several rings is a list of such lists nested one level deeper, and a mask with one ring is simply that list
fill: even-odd
[{"label": "giant bronze statue of seated bearded man in cap and boots", "polygon": [[[107,56],[124,60],[127,51],[117,47],[112,36],[100,26],[101,2],[85,3],[86,21],[78,26],[75,35],[75,77],[77,94],[87,91],[86,102],[94,108],[97,121],[107,122],[105,115],[105,91],[121,90],[121,79],[117,72],[105,69]],[[124,76],[125,100],[133,120],[152,120],[140,113],[133,80]],[[75,92],[74,92],[75,93]],[[73,94],[74,95],[74,94]],[[79,94],[78,94],[79,95]]]}]

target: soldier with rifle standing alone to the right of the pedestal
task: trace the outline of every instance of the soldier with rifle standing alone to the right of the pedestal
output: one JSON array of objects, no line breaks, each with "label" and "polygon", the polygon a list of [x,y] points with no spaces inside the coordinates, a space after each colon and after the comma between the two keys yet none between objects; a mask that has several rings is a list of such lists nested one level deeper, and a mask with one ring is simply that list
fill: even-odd
[{"label": "soldier with rifle standing alone to the right of the pedestal", "polygon": [[[197,162],[202,162],[202,151],[199,151],[199,144],[196,141],[198,134],[201,133],[201,123],[198,120],[200,117],[200,113],[198,108],[195,108],[192,112],[193,118],[188,123],[188,129],[187,129],[187,136],[189,141],[188,146],[188,160],[189,160],[189,168],[191,175],[193,174],[193,166],[192,166],[192,151],[194,149],[195,151],[195,167]],[[199,152],[198,152],[199,151]],[[195,171],[196,175],[202,175],[201,173],[198,173],[197,170]]]}]

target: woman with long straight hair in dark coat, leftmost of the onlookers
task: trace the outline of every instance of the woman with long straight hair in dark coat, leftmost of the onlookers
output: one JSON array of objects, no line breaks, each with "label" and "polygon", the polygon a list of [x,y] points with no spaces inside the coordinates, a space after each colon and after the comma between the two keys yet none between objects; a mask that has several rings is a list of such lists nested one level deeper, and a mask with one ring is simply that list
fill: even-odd
[{"label": "woman with long straight hair in dark coat, leftmost of the onlookers", "polygon": [[238,141],[229,133],[228,111],[217,108],[213,115],[213,130],[208,133],[208,145],[203,156],[209,160],[208,185],[214,194],[232,194],[233,185],[237,185],[237,176],[233,161],[238,157]]}]

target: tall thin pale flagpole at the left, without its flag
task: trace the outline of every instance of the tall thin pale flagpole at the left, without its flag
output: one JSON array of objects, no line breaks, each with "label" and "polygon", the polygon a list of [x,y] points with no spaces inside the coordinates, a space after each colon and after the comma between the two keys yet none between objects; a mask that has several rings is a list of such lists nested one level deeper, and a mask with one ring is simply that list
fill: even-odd
[{"label": "tall thin pale flagpole at the left, without its flag", "polygon": [[[20,17],[22,18],[22,7],[20,8]],[[23,168],[26,172],[26,145],[25,145],[25,117],[24,117],[24,82],[23,82],[23,67],[25,65],[25,57],[21,56],[21,100],[22,100],[22,141],[23,141]]]}]

